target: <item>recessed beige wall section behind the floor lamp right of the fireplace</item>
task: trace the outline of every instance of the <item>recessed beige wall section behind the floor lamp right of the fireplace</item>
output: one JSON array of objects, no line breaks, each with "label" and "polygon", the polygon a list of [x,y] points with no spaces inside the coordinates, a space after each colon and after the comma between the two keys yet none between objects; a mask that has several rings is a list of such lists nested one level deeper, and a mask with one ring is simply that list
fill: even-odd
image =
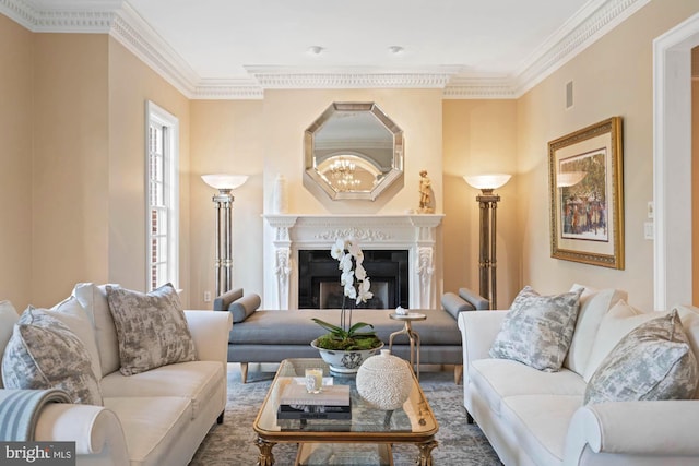
[{"label": "recessed beige wall section behind the floor lamp right of the fireplace", "polygon": [[[464,175],[517,171],[516,100],[445,100],[445,290],[478,291],[479,207]],[[521,242],[517,228],[514,176],[496,193],[498,308],[507,308],[520,289]]]}]

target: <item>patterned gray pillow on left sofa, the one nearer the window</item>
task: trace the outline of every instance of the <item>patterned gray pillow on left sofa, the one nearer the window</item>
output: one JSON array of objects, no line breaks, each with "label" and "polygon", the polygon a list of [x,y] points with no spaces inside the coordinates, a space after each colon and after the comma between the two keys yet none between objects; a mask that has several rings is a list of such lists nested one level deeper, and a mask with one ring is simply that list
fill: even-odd
[{"label": "patterned gray pillow on left sofa, the one nearer the window", "polygon": [[146,294],[107,286],[125,375],[197,359],[182,306],[173,285]]}]

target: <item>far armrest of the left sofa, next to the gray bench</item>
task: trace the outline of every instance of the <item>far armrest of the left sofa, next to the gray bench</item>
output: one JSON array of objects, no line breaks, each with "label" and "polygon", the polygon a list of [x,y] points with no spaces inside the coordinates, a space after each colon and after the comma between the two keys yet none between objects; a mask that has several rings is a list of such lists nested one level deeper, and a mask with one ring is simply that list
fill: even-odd
[{"label": "far armrest of the left sofa, next to the gray bench", "polygon": [[185,311],[194,340],[197,358],[202,361],[228,361],[228,335],[233,327],[230,312]]}]

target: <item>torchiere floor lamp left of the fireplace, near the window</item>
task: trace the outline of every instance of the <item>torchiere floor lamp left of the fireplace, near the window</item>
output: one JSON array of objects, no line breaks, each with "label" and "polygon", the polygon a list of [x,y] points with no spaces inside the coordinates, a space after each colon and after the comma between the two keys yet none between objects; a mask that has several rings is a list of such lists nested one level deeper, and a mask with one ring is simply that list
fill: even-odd
[{"label": "torchiere floor lamp left of the fireplace, near the window", "polygon": [[216,297],[233,287],[233,201],[230,193],[248,180],[247,175],[202,175],[202,180],[218,190],[212,198],[216,207]]}]

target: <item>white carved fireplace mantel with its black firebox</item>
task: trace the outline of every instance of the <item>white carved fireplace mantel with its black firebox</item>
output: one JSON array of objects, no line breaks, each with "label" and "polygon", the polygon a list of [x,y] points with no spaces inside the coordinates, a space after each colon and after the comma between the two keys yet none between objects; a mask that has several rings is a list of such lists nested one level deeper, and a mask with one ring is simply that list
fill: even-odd
[{"label": "white carved fireplace mantel with its black firebox", "polygon": [[[341,307],[340,270],[337,261],[330,256],[331,246],[341,238],[355,238],[365,255],[376,252],[377,260],[372,262],[379,268],[370,268],[365,259],[371,292],[380,301],[374,306],[436,308],[441,280],[436,266],[441,254],[438,227],[442,217],[441,214],[264,215],[269,224],[264,231],[265,308]],[[404,255],[395,259],[396,252]],[[308,259],[305,254],[311,255],[311,265],[304,264]],[[313,268],[312,279],[309,267]]]}]

